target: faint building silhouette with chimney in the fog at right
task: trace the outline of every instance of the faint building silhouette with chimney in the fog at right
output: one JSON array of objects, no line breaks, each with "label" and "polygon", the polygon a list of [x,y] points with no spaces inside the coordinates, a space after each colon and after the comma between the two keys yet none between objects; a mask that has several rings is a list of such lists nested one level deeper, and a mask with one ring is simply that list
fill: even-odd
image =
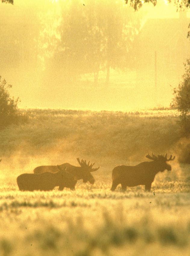
[{"label": "faint building silhouette with chimney in the fog at right", "polygon": [[190,55],[189,23],[185,12],[177,19],[146,21],[129,53],[130,68],[137,74],[137,86],[145,83],[157,91],[159,97],[164,94],[167,97],[167,92],[171,95],[171,86],[179,84],[184,73],[183,63]]}]

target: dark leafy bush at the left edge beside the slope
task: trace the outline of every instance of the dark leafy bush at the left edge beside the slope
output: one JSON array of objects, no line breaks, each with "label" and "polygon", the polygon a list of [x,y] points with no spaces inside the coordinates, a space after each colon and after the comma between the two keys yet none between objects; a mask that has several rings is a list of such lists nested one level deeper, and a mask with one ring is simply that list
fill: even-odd
[{"label": "dark leafy bush at the left edge beside the slope", "polygon": [[0,129],[13,123],[26,121],[26,115],[22,115],[17,108],[19,98],[10,97],[8,90],[11,88],[6,80],[0,76]]}]

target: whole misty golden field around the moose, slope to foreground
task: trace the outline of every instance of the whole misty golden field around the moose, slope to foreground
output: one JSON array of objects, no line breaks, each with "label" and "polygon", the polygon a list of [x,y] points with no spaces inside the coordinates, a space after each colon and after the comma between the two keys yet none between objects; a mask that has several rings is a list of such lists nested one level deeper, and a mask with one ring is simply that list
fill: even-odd
[{"label": "whole misty golden field around the moose, slope to foreground", "polygon": [[[175,110],[28,110],[26,124],[0,131],[0,255],[189,255],[190,167]],[[176,155],[172,171],[111,192],[111,171],[145,155]],[[20,192],[16,177],[42,164],[95,162],[95,184],[75,191]]]}]

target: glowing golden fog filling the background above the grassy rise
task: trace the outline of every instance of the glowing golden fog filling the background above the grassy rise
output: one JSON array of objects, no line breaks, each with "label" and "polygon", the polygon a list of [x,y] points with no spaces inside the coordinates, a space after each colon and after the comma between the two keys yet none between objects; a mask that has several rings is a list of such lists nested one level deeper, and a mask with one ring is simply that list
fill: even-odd
[{"label": "glowing golden fog filling the background above the grassy rise", "polygon": [[167,1],[0,4],[0,75],[20,108],[169,107],[189,57],[190,19]]}]

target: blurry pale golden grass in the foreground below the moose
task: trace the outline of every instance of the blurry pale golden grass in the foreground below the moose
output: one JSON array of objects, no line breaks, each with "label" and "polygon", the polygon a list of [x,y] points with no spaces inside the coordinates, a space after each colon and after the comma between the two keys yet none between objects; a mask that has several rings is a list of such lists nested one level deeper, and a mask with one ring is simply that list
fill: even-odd
[{"label": "blurry pale golden grass in the foreground below the moose", "polygon": [[188,193],[1,190],[2,255],[188,255]]}]

